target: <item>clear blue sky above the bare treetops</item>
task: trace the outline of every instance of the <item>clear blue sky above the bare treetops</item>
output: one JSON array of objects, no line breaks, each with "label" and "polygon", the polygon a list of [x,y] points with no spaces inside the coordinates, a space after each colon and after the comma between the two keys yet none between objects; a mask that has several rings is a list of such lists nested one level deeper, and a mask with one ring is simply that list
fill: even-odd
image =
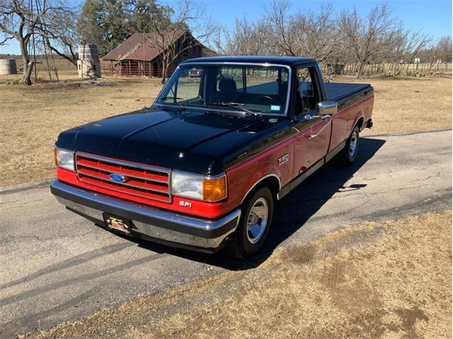
[{"label": "clear blue sky above the bare treetops", "polygon": [[[178,0],[164,0],[172,6]],[[270,0],[199,0],[217,23],[224,28],[232,28],[235,18],[256,20]],[[71,1],[72,2],[72,1]],[[316,10],[322,4],[331,4],[334,11],[355,6],[361,13],[367,13],[370,8],[382,4],[382,0],[289,0],[292,10]],[[452,0],[394,0],[386,1],[393,9],[394,17],[401,20],[406,29],[420,30],[436,40],[442,35],[452,35]],[[18,44],[8,42],[8,46],[0,46],[0,54],[19,54]]]}]

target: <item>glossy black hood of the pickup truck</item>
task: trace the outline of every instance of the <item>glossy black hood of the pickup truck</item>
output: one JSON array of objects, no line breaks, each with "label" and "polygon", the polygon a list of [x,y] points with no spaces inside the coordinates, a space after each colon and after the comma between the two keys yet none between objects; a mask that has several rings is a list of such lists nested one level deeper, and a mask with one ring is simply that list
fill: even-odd
[{"label": "glossy black hood of the pickup truck", "polygon": [[231,117],[204,111],[143,109],[62,132],[55,145],[122,160],[215,174],[222,156],[272,129],[258,117]]}]

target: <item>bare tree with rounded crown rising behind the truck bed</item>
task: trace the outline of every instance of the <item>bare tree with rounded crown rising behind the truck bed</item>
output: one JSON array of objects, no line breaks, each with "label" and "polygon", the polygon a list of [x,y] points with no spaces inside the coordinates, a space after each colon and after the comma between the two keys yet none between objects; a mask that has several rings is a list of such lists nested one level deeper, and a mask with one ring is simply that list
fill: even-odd
[{"label": "bare tree with rounded crown rising behind the truck bed", "polygon": [[390,54],[398,33],[398,23],[387,4],[373,7],[365,19],[357,8],[343,11],[339,24],[343,41],[359,64],[358,76],[366,64],[380,62]]}]

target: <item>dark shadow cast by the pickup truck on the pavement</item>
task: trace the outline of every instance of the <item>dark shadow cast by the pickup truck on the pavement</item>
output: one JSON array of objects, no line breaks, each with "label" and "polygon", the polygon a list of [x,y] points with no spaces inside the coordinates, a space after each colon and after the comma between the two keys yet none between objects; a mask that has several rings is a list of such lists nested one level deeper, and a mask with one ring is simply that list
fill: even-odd
[{"label": "dark shadow cast by the pickup truck on the pavement", "polygon": [[[361,138],[360,151],[352,166],[338,165],[335,160],[331,160],[325,166],[321,167],[309,179],[301,184],[297,189],[294,189],[281,201],[275,205],[274,222],[268,240],[260,255],[248,258],[245,261],[230,258],[219,252],[218,254],[202,254],[194,251],[183,249],[174,249],[168,246],[147,242],[140,239],[130,239],[138,246],[158,253],[171,254],[180,256],[189,260],[200,261],[210,265],[219,266],[229,270],[247,270],[255,268],[263,263],[273,250],[285,239],[290,237],[299,228],[304,226],[304,223],[311,218],[323,205],[328,201],[333,194],[338,191],[355,191],[367,186],[366,184],[352,184],[345,186],[350,178],[354,176],[360,167],[371,159],[379,148],[386,141]],[[283,221],[282,221],[283,220]]]}]

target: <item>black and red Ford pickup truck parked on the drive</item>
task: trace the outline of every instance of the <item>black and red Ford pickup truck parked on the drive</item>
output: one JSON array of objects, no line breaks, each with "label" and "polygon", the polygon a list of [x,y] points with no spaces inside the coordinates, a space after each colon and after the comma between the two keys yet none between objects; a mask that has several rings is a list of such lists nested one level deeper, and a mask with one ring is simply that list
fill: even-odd
[{"label": "black and red Ford pickup truck parked on the drive", "polygon": [[110,230],[249,256],[276,200],[355,160],[373,102],[371,85],[324,83],[314,59],[190,59],[151,107],[59,134],[50,188]]}]

